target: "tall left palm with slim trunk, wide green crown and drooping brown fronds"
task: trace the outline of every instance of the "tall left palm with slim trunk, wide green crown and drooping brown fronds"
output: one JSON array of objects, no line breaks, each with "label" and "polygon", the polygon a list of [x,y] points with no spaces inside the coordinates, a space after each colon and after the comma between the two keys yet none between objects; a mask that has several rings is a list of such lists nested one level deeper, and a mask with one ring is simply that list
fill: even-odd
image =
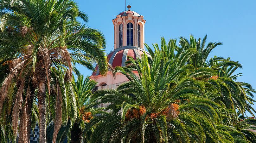
[{"label": "tall left palm with slim trunk, wide green crown and drooping brown fronds", "polygon": [[[65,67],[66,80],[72,78],[75,63],[105,73],[107,68],[105,38],[98,30],[88,28],[77,22],[80,17],[85,22],[87,16],[71,0],[0,0],[0,58],[10,59],[13,68],[6,76],[1,88],[0,112],[6,98],[7,89],[14,79],[33,75],[33,88],[38,88],[38,109],[40,143],[46,142],[46,92],[50,94],[50,69]],[[10,52],[11,51],[11,52]],[[27,81],[27,80],[26,80]],[[22,103],[24,86],[19,86],[17,103]],[[20,112],[17,104],[17,115]],[[15,116],[17,117],[17,116]],[[61,120],[56,120],[58,132]],[[16,126],[16,125],[15,125]]]}]

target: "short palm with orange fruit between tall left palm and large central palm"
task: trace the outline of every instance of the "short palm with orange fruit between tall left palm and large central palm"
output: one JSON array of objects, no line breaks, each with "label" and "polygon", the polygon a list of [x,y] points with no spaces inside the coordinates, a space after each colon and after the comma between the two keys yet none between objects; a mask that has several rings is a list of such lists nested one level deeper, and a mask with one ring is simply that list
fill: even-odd
[{"label": "short palm with orange fruit between tall left palm and large central palm", "polygon": [[[72,86],[74,87],[74,94],[77,98],[77,117],[74,115],[68,117],[67,124],[62,125],[56,142],[61,142],[67,137],[68,142],[80,143],[87,142],[90,139],[90,132],[85,132],[86,124],[90,122],[96,114],[105,113],[103,108],[94,108],[97,106],[98,98],[91,98],[92,90],[96,86],[96,82],[90,80],[89,77],[84,78],[79,75],[76,80],[73,77]],[[71,113],[72,114],[72,113]],[[47,140],[52,141],[52,134],[54,132],[54,122],[51,122],[47,128]]]}]

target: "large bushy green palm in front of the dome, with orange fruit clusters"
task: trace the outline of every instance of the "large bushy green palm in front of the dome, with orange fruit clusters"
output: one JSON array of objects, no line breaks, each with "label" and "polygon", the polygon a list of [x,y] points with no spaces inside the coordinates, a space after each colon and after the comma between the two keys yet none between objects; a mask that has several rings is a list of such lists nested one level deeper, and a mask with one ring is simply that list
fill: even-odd
[{"label": "large bushy green palm in front of the dome, with orange fruit clusters", "polygon": [[[200,97],[203,82],[189,77],[189,58],[195,49],[184,49],[161,39],[161,49],[146,45],[152,60],[127,61],[115,67],[129,81],[117,89],[95,92],[100,103],[108,103],[110,114],[93,118],[86,129],[96,124],[91,142],[218,142],[214,123],[222,108]],[[135,74],[135,72],[138,74]]]}]

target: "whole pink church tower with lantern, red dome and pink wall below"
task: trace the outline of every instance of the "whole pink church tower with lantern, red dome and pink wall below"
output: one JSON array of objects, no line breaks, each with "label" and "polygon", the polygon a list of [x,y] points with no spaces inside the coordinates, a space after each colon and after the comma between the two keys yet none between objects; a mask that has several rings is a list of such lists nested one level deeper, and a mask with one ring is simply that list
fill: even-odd
[{"label": "whole pink church tower with lantern, red dome and pink wall below", "polygon": [[[114,25],[114,50],[107,57],[113,68],[115,66],[125,66],[128,56],[136,60],[141,58],[144,52],[149,55],[144,49],[146,20],[142,15],[130,10],[130,5],[127,8],[128,10],[119,13],[112,20]],[[90,78],[98,82],[98,89],[115,89],[121,83],[128,81],[121,73],[117,73],[116,78],[113,77],[110,71],[103,76],[99,73],[98,66],[96,66],[96,72],[93,72]]]}]

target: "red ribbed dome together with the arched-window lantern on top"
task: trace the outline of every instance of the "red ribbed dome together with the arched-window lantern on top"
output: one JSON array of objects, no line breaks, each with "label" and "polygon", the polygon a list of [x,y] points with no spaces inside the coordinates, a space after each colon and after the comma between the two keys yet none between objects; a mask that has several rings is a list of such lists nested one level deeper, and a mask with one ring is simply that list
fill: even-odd
[{"label": "red ribbed dome together with the arched-window lantern on top", "polygon": [[[125,66],[127,57],[140,59],[145,52],[144,49],[144,25],[146,20],[143,16],[135,11],[131,11],[131,6],[127,6],[128,10],[119,13],[114,24],[114,50],[108,54],[108,63],[114,68],[115,66]],[[96,72],[92,76],[100,76],[98,66],[95,67]]]}]

